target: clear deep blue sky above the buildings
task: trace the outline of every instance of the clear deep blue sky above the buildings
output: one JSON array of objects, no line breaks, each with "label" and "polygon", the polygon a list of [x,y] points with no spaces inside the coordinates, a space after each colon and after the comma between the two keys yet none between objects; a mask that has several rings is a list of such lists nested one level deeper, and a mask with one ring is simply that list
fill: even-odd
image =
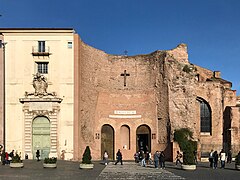
[{"label": "clear deep blue sky above the buildings", "polygon": [[110,54],[188,45],[189,61],[221,71],[240,95],[239,0],[0,0],[0,27],[73,27]]}]

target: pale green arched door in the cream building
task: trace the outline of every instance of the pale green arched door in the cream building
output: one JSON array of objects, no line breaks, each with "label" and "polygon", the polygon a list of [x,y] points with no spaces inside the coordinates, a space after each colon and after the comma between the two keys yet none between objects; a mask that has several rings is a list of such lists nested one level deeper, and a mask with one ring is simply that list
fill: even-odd
[{"label": "pale green arched door in the cream building", "polygon": [[50,153],[50,122],[44,116],[38,116],[32,124],[32,154],[36,159],[36,151],[40,151],[40,158],[48,157]]}]

